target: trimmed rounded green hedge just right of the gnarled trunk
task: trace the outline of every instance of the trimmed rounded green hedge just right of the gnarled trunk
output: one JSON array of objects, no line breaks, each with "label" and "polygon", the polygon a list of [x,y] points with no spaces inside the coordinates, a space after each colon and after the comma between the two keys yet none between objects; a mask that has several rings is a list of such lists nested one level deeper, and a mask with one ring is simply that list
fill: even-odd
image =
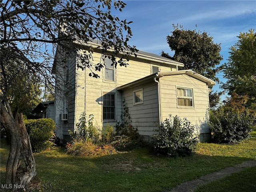
[{"label": "trimmed rounded green hedge just right of the gnarled trunk", "polygon": [[41,152],[50,147],[50,138],[54,135],[55,123],[50,118],[30,119],[24,121],[30,136],[33,152]]}]

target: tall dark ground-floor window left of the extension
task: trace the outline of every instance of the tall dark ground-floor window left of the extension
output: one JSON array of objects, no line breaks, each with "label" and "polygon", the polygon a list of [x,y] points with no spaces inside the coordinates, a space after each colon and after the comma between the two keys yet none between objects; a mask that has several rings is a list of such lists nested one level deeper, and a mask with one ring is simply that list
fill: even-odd
[{"label": "tall dark ground-floor window left of the extension", "polygon": [[116,95],[114,93],[103,95],[103,120],[116,120]]}]

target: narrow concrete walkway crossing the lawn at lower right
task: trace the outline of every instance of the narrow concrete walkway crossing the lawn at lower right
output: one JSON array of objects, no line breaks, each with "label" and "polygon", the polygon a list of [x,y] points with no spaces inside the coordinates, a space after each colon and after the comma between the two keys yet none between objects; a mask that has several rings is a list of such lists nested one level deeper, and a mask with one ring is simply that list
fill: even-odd
[{"label": "narrow concrete walkway crossing the lawn at lower right", "polygon": [[232,167],[228,167],[228,168],[222,169],[217,172],[210,173],[208,175],[200,177],[199,179],[182,183],[181,185],[177,186],[176,188],[174,188],[172,190],[166,190],[164,192],[192,192],[199,186],[208,184],[212,181],[229,176],[232,173],[239,172],[245,168],[252,167],[252,166],[256,166],[256,160],[246,161],[241,164],[238,164],[238,165],[235,165]]}]

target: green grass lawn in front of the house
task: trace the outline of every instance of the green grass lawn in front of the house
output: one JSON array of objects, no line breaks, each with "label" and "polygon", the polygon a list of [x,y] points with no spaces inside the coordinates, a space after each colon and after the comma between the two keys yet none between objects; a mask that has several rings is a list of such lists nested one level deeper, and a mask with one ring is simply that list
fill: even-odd
[{"label": "green grass lawn in front of the house", "polygon": [[[4,184],[8,149],[9,146],[1,140],[1,184]],[[240,144],[199,143],[196,154],[188,157],[158,157],[149,149],[138,148],[130,152],[88,158],[70,156],[64,148],[53,148],[34,153],[34,158],[37,175],[33,192],[163,192],[205,174],[255,159],[256,131],[252,132],[250,140]],[[212,186],[207,185],[208,191],[213,191],[212,188],[216,191],[225,188],[227,191],[234,186],[233,183],[248,187],[242,191],[252,191],[256,185],[255,168],[232,174],[227,179],[227,182],[223,182],[226,181],[224,178]]]}]

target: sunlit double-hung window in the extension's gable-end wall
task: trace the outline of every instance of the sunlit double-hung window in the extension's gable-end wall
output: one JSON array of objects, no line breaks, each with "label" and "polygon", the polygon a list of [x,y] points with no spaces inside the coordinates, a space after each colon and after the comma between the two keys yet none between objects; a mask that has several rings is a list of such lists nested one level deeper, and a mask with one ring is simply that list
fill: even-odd
[{"label": "sunlit double-hung window in the extension's gable-end wall", "polygon": [[177,87],[178,107],[194,108],[193,89]]}]

